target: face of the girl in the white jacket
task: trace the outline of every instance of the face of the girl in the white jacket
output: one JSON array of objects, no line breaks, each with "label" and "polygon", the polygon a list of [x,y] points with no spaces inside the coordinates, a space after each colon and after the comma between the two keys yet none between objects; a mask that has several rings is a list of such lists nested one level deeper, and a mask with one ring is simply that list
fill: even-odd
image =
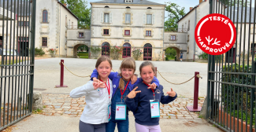
[{"label": "face of the girl in the white jacket", "polygon": [[102,79],[107,79],[110,72],[111,72],[111,66],[109,64],[108,61],[102,61],[101,64],[98,65],[98,68],[96,68],[98,71],[98,75],[102,78]]}]

